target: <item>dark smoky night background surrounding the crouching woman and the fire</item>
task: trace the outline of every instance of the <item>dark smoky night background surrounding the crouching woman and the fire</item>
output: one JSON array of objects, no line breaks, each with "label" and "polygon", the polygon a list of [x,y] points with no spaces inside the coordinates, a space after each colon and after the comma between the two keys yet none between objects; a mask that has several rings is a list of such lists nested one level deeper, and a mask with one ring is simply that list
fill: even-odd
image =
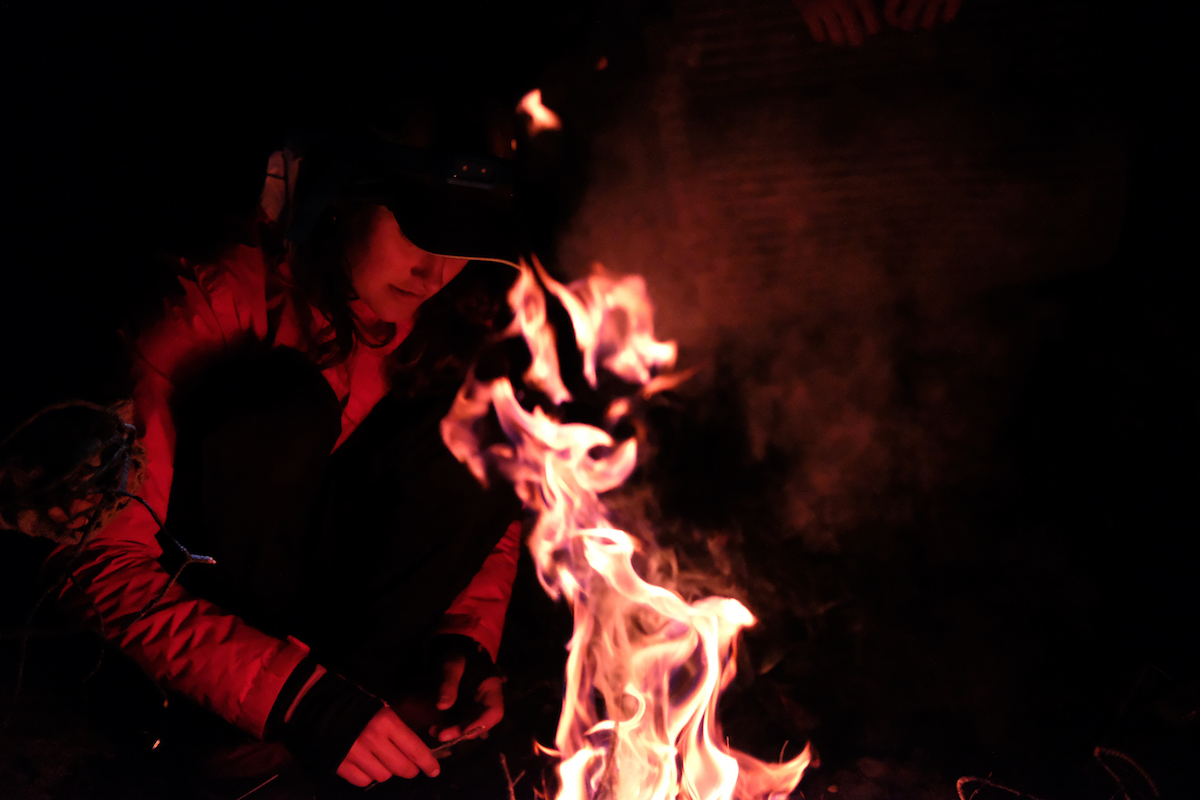
[{"label": "dark smoky night background surrounding the crouching woman and the fire", "polygon": [[[644,273],[700,367],[646,409],[644,467],[613,501],[676,549],[682,588],[762,619],[733,744],[811,740],[810,798],[949,798],[961,775],[1106,798],[1097,746],[1189,796],[1183,17],[966,0],[932,34],[848,50],[784,0],[566,5],[6,6],[0,429],[122,395],[118,330],[173,259],[239,235],[287,126],[541,86],[564,130],[522,142],[539,253]],[[13,630],[38,547],[0,543]],[[560,692],[562,610],[539,591],[526,569],[502,654],[514,763],[548,742]],[[6,686],[16,649],[0,640]],[[157,736],[106,694],[119,658],[80,682],[96,655],[34,642],[5,796],[173,796],[139,783]]]}]

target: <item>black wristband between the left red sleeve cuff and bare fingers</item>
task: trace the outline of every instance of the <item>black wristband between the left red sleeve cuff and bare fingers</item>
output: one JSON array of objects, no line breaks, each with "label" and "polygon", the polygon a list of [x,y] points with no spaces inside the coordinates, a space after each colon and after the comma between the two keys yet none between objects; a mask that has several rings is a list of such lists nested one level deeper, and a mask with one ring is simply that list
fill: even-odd
[{"label": "black wristband between the left red sleeve cuff and bare fingers", "polygon": [[350,752],[383,700],[326,672],[296,703],[281,738],[316,775],[331,775]]}]

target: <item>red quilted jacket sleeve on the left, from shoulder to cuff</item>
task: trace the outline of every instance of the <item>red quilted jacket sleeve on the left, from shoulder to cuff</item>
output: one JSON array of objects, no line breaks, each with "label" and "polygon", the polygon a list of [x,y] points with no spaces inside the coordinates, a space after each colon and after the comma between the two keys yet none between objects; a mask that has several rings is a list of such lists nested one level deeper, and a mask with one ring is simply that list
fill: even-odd
[{"label": "red quilted jacket sleeve on the left, from shoulder to cuff", "polygon": [[[245,247],[200,267],[133,345],[134,413],[145,453],[139,494],[160,518],[173,475],[174,380],[196,360],[265,336],[264,275],[260,253]],[[52,565],[71,571],[61,601],[160,685],[262,735],[280,688],[308,649],[266,636],[172,583],[157,561],[157,530],[150,513],[130,503],[82,552],[53,554]]]}]

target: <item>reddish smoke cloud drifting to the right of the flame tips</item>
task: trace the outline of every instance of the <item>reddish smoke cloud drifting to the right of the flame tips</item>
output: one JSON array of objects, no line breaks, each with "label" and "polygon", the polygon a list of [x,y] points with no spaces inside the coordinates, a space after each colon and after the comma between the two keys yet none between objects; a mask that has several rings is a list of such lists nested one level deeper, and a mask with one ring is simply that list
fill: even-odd
[{"label": "reddish smoke cloud drifting to the right of the flame tips", "polygon": [[[838,552],[986,468],[1038,321],[992,312],[1111,251],[1116,144],[1080,126],[1014,149],[1027,115],[997,124],[946,92],[739,98],[704,82],[697,41],[596,138],[559,263],[646,276],[660,337],[701,367],[692,433],[740,437],[696,446],[733,463],[683,467],[712,483],[685,495],[757,492],[772,537]],[[744,528],[742,506],[725,522]]]}]

